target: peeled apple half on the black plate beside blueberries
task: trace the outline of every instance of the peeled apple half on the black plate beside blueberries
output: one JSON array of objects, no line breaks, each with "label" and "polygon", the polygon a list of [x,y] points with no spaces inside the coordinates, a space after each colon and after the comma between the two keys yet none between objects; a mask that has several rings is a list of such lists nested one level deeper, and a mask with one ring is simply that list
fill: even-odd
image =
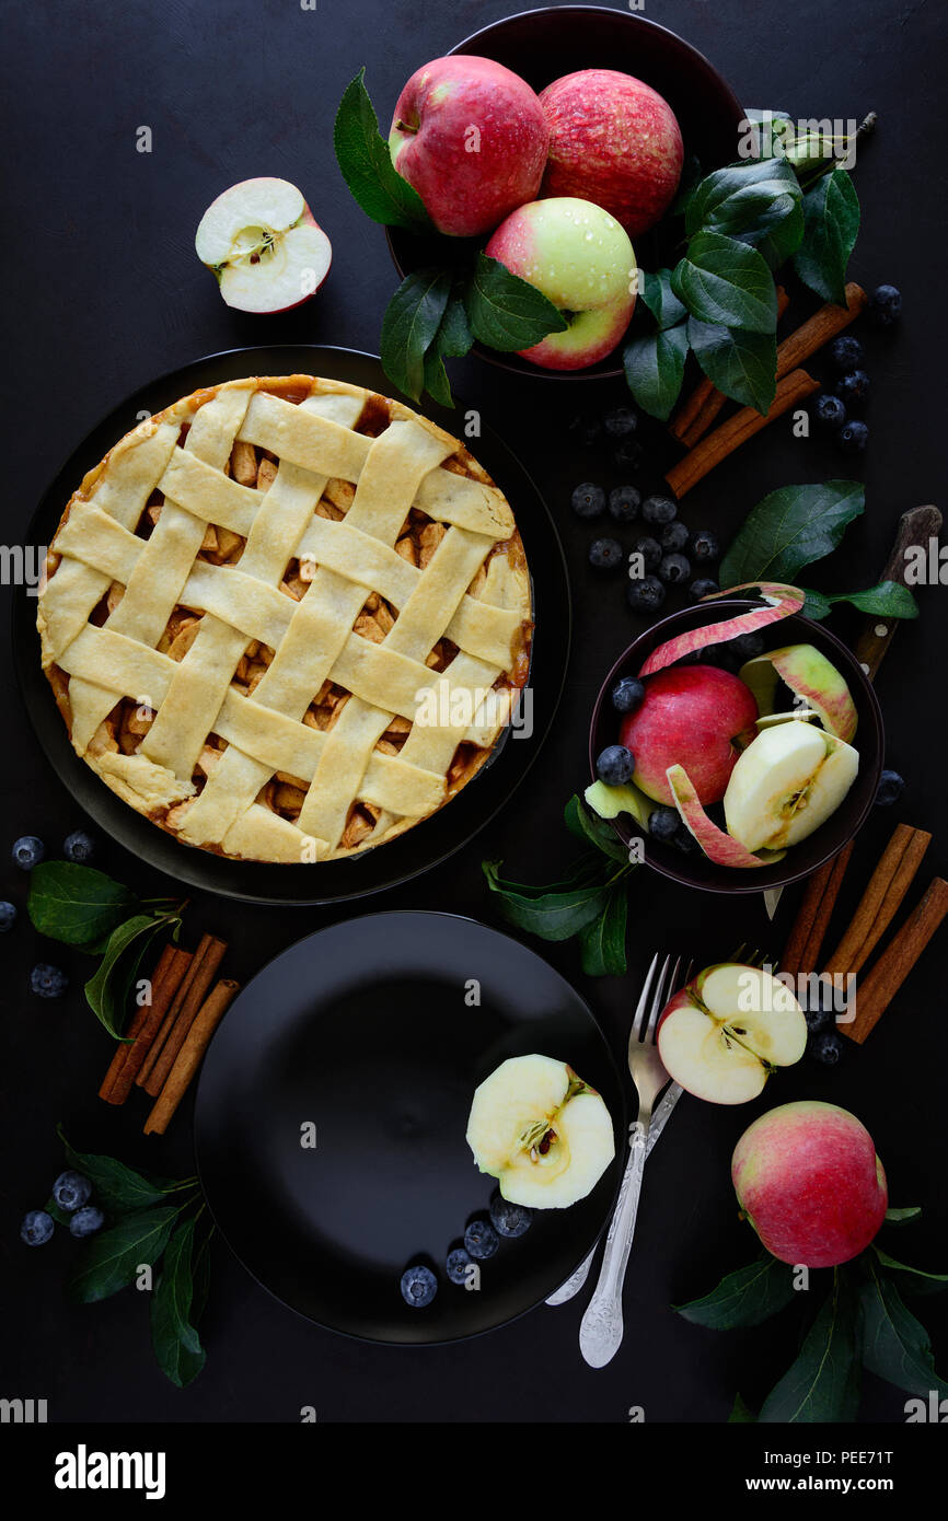
[{"label": "peeled apple half on the black plate beside blueberries", "polygon": [[514,1056],[475,1091],[467,1144],[511,1205],[566,1209],[615,1156],[606,1104],[565,1062]]}]

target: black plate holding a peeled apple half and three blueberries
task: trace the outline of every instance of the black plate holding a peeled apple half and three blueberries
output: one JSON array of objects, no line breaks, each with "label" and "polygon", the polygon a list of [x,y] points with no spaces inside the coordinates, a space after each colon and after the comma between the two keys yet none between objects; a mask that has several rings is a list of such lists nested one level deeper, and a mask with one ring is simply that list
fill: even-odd
[{"label": "black plate holding a peeled apple half and three blueberries", "polygon": [[[470,989],[479,1002],[470,1002]],[[464,1139],[473,1091],[510,1056],[569,1062],[612,1115],[616,1161],[569,1209],[481,1264],[481,1288],[444,1256],[496,1186]],[[317,1145],[300,1144],[315,1126]],[[215,1036],[195,1147],[210,1209],[277,1299],[371,1342],[449,1342],[540,1303],[606,1224],[625,1136],[622,1084],[580,995],[525,946],[453,914],[371,914],[271,961]],[[425,1310],[399,1288],[438,1273]]]}]

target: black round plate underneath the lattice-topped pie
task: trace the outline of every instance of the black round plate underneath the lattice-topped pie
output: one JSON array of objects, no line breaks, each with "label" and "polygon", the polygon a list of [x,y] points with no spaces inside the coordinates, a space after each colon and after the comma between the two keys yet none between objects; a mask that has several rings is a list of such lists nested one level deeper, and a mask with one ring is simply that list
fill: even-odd
[{"label": "black round plate underneath the lattice-topped pie", "polygon": [[[85,472],[135,426],[143,412],[158,412],[199,386],[248,374],[317,374],[393,394],[379,360],[350,348],[280,344],[234,348],[198,359],[143,386],[90,433],[44,493],[26,541],[49,545],[62,508]],[[414,402],[408,405],[417,408]],[[422,409],[441,427],[464,437],[461,406],[453,412],[434,406]],[[525,709],[530,727],[525,722],[516,738],[508,730],[495,756],[458,797],[402,838],[376,850],[315,865],[228,861],[180,844],[173,835],[135,814],[76,756],[40,668],[37,601],[20,589],[14,598],[14,659],[29,716],[56,776],[100,829],[158,870],[205,891],[254,903],[329,903],[379,893],[429,870],[466,844],[504,806],[536,759],[560,700],[569,657],[569,584],[552,519],[523,467],[488,429],[470,443],[472,453],[510,499],[526,549],[537,625],[528,683],[531,707]]]}]

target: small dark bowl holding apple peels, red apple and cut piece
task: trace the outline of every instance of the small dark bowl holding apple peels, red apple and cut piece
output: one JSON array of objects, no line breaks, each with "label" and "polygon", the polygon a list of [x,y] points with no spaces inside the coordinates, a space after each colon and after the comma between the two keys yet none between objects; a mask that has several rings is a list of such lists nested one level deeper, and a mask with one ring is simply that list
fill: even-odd
[{"label": "small dark bowl holding apple peels, red apple and cut piece", "polygon": [[[657,645],[665,643],[665,640],[689,633],[692,628],[701,628],[705,624],[718,622],[721,618],[747,613],[752,608],[759,608],[759,602],[749,598],[727,598],[720,602],[698,604],[697,607],[686,607],[680,613],[673,613],[671,618],[662,619],[660,624],[654,624],[653,628],[639,634],[635,643],[619,656],[603,681],[592,710],[592,722],[589,726],[589,770],[593,780],[596,756],[606,745],[618,742],[621,718],[612,706],[610,692],[619,677],[638,675],[651,651]],[[650,835],[642,837],[642,830],[627,814],[619,814],[613,820],[613,827],[625,844],[630,844],[636,837],[644,838],[647,865],[654,867],[662,876],[670,876],[673,881],[682,882],[685,887],[700,887],[708,893],[759,893],[765,887],[787,887],[790,882],[799,882],[800,878],[819,870],[861,829],[875,802],[883,771],[883,757],[886,754],[883,713],[872,683],[852,651],[835,634],[823,628],[822,624],[814,624],[810,618],[802,618],[799,613],[770,624],[761,630],[761,634],[764,636],[767,649],[781,649],[784,645],[816,645],[843,674],[858,713],[854,745],[860,753],[860,770],[849,792],[826,823],[820,824],[806,840],[800,840],[797,846],[793,846],[782,861],[778,861],[775,865],[761,867],[759,870],[715,865],[700,849],[691,855],[683,855],[671,846],[660,844]]]}]

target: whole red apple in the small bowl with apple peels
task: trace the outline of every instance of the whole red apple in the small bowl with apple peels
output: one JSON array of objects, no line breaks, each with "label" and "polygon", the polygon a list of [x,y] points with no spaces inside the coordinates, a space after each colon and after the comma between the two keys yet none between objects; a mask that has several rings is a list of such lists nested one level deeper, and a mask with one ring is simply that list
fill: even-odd
[{"label": "whole red apple in the small bowl with apple peels", "polygon": [[703,805],[720,803],[738,759],[733,741],[753,736],[758,704],[750,687],[718,666],[671,666],[645,680],[645,697],[622,724],[636,786],[674,806],[666,771],[685,767]]}]

